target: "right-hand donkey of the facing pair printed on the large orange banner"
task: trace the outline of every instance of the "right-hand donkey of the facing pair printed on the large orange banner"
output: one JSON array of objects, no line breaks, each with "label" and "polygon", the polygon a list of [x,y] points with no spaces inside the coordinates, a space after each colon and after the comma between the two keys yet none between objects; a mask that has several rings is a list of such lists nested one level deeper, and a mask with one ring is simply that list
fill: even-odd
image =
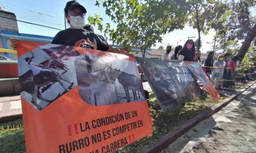
[{"label": "right-hand donkey of the facing pair printed on the large orange banner", "polygon": [[[117,70],[116,68],[115,69],[111,68],[110,78],[112,81],[116,81],[116,79],[118,79],[118,82],[122,85],[122,87],[125,90],[125,95],[126,95],[128,103],[131,102],[129,89],[134,90],[134,91],[136,91],[136,90],[140,91],[140,93],[145,98],[145,93],[144,93],[144,89],[143,89],[141,80],[140,80],[140,78],[136,77],[135,75],[122,72],[120,70]],[[134,98],[135,98],[136,92],[134,92],[134,93],[135,93],[134,94]]]}]

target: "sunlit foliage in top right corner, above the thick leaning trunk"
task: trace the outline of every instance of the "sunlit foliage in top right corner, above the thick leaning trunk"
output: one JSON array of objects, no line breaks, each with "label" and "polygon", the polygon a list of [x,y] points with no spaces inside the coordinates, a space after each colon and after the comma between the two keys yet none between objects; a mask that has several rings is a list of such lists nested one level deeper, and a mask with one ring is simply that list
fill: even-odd
[{"label": "sunlit foliage in top right corner, above the thick leaning trunk", "polygon": [[[229,40],[238,41],[245,39],[247,33],[256,22],[255,0],[229,0],[225,1],[229,11],[223,16],[223,22],[215,38],[220,44],[219,49],[225,49],[225,42]],[[251,10],[251,11],[250,11]]]}]

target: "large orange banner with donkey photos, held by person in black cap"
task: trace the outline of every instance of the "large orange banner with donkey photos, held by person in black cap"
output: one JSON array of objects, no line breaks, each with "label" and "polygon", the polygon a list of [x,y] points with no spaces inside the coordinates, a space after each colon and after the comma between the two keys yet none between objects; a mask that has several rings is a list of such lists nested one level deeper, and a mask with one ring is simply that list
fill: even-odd
[{"label": "large orange banner with donkey photos, held by person in black cap", "polygon": [[20,41],[18,68],[27,153],[111,153],[153,130],[133,57]]}]

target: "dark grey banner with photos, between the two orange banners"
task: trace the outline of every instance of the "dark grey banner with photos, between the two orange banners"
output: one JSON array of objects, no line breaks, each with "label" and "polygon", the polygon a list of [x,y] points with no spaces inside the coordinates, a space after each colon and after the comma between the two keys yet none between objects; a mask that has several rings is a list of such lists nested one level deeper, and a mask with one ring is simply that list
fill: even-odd
[{"label": "dark grey banner with photos, between the two orange banners", "polygon": [[190,101],[202,91],[183,61],[136,57],[163,110]]}]

